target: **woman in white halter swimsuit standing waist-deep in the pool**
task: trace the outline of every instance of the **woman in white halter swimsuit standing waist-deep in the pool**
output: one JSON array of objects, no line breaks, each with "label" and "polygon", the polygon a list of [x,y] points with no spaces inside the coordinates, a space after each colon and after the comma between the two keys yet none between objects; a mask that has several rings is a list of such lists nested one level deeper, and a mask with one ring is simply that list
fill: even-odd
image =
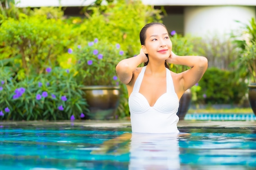
[{"label": "woman in white halter swimsuit standing waist-deep in the pool", "polygon": [[[207,58],[177,56],[166,26],[146,24],[140,32],[139,55],[121,60],[116,67],[129,96],[132,132],[179,133],[176,115],[184,91],[195,85],[207,69]],[[144,67],[137,67],[144,63]],[[168,63],[189,66],[182,73],[168,69]]]}]

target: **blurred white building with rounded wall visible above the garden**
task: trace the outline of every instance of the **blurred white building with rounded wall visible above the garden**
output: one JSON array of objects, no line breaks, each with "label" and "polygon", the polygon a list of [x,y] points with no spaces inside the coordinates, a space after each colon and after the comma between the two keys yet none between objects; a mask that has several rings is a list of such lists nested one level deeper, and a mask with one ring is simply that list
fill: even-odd
[{"label": "blurred white building with rounded wall visible above the garden", "polygon": [[[65,15],[79,15],[79,8],[95,0],[19,0],[18,7],[66,7]],[[219,35],[240,29],[256,17],[256,0],[142,0],[144,4],[164,7],[168,30],[200,37]],[[239,22],[236,22],[239,21]]]}]

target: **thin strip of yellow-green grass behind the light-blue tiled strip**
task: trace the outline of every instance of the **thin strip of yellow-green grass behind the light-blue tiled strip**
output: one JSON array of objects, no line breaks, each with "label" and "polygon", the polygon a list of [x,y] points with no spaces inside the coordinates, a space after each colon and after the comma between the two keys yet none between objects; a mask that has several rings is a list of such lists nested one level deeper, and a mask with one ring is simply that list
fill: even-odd
[{"label": "thin strip of yellow-green grass behind the light-blue tiled strip", "polygon": [[188,110],[188,113],[253,113],[252,108],[199,108]]}]

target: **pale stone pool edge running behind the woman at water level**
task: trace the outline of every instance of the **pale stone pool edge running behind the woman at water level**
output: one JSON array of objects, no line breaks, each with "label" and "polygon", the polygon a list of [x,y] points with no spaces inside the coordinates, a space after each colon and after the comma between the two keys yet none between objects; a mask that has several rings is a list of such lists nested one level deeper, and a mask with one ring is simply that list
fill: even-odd
[{"label": "pale stone pool edge running behind the woman at water level", "polygon": [[[95,128],[128,128],[130,120],[76,120],[76,121],[0,121],[4,126],[84,126]],[[256,121],[216,121],[216,120],[180,120],[178,128],[232,128],[255,129]]]}]

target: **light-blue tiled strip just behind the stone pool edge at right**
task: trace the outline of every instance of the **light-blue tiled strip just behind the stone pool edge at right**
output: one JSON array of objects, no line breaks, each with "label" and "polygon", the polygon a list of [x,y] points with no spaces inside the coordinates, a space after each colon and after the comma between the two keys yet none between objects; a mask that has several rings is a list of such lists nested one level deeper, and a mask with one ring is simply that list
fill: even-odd
[{"label": "light-blue tiled strip just behind the stone pool edge at right", "polygon": [[253,113],[187,113],[184,120],[256,120]]}]

